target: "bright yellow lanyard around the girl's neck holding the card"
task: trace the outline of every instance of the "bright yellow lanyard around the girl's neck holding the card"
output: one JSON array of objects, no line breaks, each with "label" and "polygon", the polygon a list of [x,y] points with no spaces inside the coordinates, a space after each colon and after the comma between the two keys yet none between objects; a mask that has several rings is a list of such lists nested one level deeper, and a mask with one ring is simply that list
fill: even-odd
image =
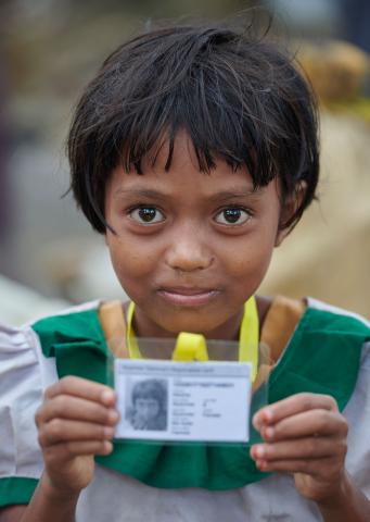
[{"label": "bright yellow lanyard around the girl's neck holding the card", "polygon": [[[132,328],[135,303],[131,301],[127,310],[127,345],[131,359],[142,359]],[[259,321],[255,297],[244,304],[244,314],[240,327],[239,361],[252,362],[252,381],[258,368]],[[207,361],[208,352],[205,337],[200,334],[181,332],[176,340],[173,353],[174,361]]]}]

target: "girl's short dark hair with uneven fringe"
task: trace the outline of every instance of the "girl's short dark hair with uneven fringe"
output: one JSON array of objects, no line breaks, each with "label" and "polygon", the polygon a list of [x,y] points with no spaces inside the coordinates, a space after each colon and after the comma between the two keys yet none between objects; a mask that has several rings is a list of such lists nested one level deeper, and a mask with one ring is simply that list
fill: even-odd
[{"label": "girl's short dark hair with uneven fringe", "polygon": [[105,185],[119,163],[142,174],[142,160],[179,129],[200,171],[217,159],[245,165],[255,188],[276,176],[282,197],[306,191],[284,226],[315,198],[319,172],[317,112],[310,88],[276,42],[222,25],[175,26],[130,39],[103,63],[77,104],[67,141],[75,199],[105,233]]}]

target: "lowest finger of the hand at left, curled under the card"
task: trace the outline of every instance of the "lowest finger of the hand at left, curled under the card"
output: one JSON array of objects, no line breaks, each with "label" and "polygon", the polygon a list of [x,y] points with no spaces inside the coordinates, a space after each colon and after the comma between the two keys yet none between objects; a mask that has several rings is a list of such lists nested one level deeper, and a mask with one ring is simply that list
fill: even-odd
[{"label": "lowest finger of the hand at left, curled under the card", "polygon": [[43,457],[47,464],[64,464],[66,460],[74,457],[90,455],[109,455],[113,451],[113,444],[110,440],[87,440],[61,443],[46,448]]}]

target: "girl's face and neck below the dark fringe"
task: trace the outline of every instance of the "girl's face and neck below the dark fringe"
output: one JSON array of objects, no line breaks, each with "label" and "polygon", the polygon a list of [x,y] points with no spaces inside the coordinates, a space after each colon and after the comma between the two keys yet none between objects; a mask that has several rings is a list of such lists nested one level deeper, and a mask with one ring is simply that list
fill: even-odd
[{"label": "girl's face and neck below the dark fringe", "polygon": [[184,134],[143,175],[118,166],[106,186],[106,243],[145,337],[179,332],[238,337],[243,303],[260,285],[279,232],[278,183],[256,191],[245,169],[199,172]]}]

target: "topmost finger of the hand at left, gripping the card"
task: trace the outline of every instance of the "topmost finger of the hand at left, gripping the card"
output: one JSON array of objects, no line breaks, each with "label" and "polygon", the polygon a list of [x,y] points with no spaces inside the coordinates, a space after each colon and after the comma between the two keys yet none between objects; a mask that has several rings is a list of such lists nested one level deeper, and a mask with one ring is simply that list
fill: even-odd
[{"label": "topmost finger of the hand at left, gripping the card", "polygon": [[61,378],[44,394],[46,399],[52,399],[58,395],[73,395],[104,406],[113,406],[116,399],[114,390],[109,386],[73,375]]}]

